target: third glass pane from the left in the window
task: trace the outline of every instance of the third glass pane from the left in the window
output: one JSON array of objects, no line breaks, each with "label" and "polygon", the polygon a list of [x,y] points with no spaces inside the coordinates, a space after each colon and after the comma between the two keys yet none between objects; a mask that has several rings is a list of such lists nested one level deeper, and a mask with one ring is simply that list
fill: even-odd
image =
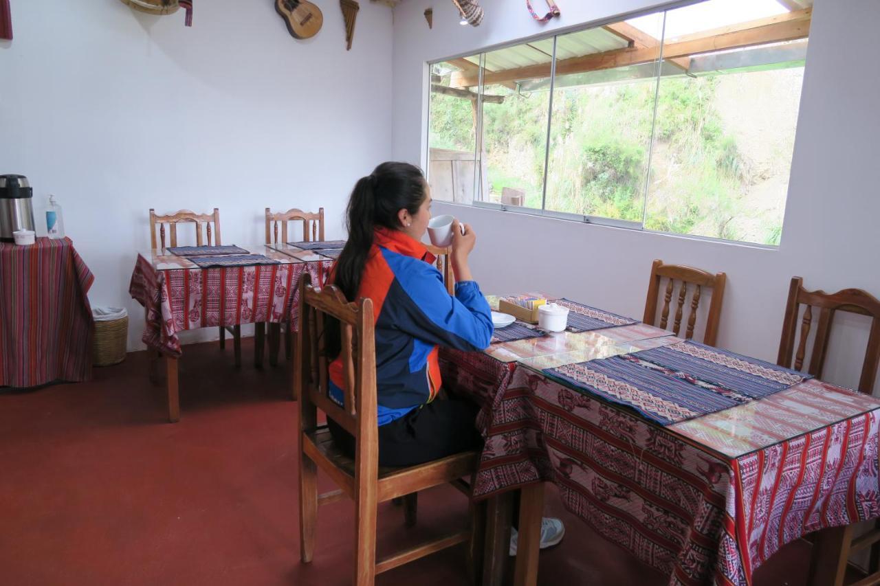
[{"label": "third glass pane from the left in the window", "polygon": [[546,209],[642,223],[663,14],[561,35]]}]

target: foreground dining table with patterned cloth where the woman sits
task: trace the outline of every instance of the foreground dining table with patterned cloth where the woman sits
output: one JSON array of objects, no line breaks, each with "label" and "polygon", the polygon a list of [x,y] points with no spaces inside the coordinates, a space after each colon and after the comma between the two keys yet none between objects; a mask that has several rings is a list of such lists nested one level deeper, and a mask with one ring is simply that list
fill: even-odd
[{"label": "foreground dining table with patterned cloth where the woman sits", "polygon": [[[751,584],[781,546],[819,530],[812,583],[831,583],[835,528],[880,516],[880,401],[589,311],[613,318],[577,332],[520,324],[535,335],[441,350],[444,385],[481,406],[484,586],[502,582],[517,502],[514,582],[537,582],[546,482],[670,584]],[[667,400],[692,390],[686,407]]]}]

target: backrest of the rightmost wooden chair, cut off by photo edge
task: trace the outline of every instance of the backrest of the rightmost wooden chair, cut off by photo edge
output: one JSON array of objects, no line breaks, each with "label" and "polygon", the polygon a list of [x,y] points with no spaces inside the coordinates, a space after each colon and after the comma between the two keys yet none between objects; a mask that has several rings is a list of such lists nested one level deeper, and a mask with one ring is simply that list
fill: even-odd
[{"label": "backrest of the rightmost wooden chair, cut off by photo edge", "polygon": [[[806,307],[803,310],[801,332],[798,336],[797,349],[795,349],[797,318],[800,315],[801,305],[806,305]],[[859,391],[871,394],[874,390],[877,363],[880,361],[880,300],[862,289],[843,289],[831,294],[822,290],[808,291],[803,288],[801,277],[793,277],[788,288],[788,304],[785,307],[785,320],[782,322],[782,337],[779,342],[779,356],[776,358],[776,363],[786,368],[802,370],[807,340],[812,329],[814,307],[818,309],[818,324],[813,338],[810,364],[806,371],[814,377],[822,377],[832,320],[836,311],[850,311],[869,316],[871,330],[868,336],[865,360],[862,363]],[[792,365],[793,358],[794,365]]]}]

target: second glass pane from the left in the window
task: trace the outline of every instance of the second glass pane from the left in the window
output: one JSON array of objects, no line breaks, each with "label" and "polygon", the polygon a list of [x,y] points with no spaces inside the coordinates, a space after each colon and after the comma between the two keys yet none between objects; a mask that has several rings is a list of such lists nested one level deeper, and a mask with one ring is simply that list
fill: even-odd
[{"label": "second glass pane from the left in the window", "polygon": [[[478,168],[483,201],[541,208],[552,58],[552,39],[484,57]],[[535,89],[526,91],[525,84]]]}]

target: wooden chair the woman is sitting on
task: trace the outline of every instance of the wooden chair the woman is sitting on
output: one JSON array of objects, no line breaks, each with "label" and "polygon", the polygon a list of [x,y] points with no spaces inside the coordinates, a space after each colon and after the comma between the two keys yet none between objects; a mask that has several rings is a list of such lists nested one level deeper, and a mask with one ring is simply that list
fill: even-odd
[{"label": "wooden chair the woman is sitting on", "polygon": [[[376,560],[378,503],[445,482],[469,493],[460,479],[475,472],[478,453],[467,451],[423,465],[379,467],[372,301],[362,298],[357,303],[348,303],[333,285],[318,291],[312,288],[310,281],[309,275],[303,275],[300,281],[301,309],[294,361],[300,397],[300,555],[304,562],[312,560],[318,506],[348,496],[355,502],[353,583],[365,586],[372,584],[377,574],[472,538],[472,531],[459,531]],[[324,351],[323,334],[328,318],[340,322],[342,369],[347,388],[342,407],[327,395],[329,360]],[[318,409],[355,436],[354,459],[336,448],[326,426],[318,425]],[[339,490],[318,494],[319,467]],[[471,540],[472,554],[479,547],[476,541]]]}]

